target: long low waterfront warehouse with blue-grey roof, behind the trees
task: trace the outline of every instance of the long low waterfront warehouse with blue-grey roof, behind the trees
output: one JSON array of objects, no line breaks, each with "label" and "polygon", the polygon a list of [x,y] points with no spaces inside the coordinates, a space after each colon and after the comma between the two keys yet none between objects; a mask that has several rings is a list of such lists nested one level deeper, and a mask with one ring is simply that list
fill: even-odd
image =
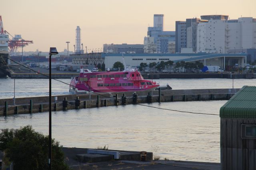
[{"label": "long low waterfront warehouse with blue-grey roof, behind the trees", "polygon": [[200,61],[204,65],[220,66],[225,70],[227,66],[238,65],[245,67],[246,53],[222,54],[222,53],[89,53],[81,55],[72,55],[74,64],[105,64],[105,68],[112,68],[116,61],[123,62],[124,55],[126,65],[137,67],[140,63],[152,63],[172,60],[194,62]]}]

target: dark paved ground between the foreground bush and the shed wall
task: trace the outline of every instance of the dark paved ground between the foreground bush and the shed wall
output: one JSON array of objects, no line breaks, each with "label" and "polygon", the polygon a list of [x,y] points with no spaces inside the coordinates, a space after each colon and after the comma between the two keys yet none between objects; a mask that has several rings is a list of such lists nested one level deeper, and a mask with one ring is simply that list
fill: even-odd
[{"label": "dark paved ground between the foreground bush and the shed wall", "polygon": [[73,170],[220,170],[220,163],[157,160],[152,162],[112,160],[80,163],[76,154],[86,153],[85,148],[63,148],[66,162]]}]

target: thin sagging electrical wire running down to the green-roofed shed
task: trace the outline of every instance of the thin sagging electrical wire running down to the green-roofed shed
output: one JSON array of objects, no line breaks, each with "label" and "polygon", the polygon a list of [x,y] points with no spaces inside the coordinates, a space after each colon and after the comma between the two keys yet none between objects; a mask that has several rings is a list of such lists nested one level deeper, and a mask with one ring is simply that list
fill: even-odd
[{"label": "thin sagging electrical wire running down to the green-roofed shed", "polygon": [[[10,59],[9,57],[4,57],[4,58]],[[23,66],[23,67],[25,67],[25,68],[27,68],[27,69],[30,69],[30,70],[34,71],[35,73],[38,73],[38,74],[44,75],[44,76],[46,76],[46,77],[49,77],[49,76],[46,75],[46,74],[37,72],[37,71],[35,71],[35,70],[33,70],[33,69],[29,68],[29,67],[26,67],[25,65],[20,64],[20,63],[14,61],[14,60],[12,60],[12,59],[10,59],[10,60],[13,61],[13,62],[16,63],[16,64],[19,64],[19,65],[21,65],[21,66]],[[54,79],[54,78],[52,78],[52,79]],[[64,84],[66,84],[66,85],[70,85],[70,84],[68,84],[68,83],[65,83],[65,82],[60,81],[60,80],[57,80],[57,79],[54,79],[54,80],[59,81],[59,82],[61,82],[61,83],[64,83]],[[73,85],[70,85],[70,86],[75,87],[75,86],[73,86]],[[81,88],[80,88],[80,89],[81,89]],[[85,90],[85,89],[82,89],[82,90],[88,91],[88,90]],[[102,95],[102,94],[99,94],[99,93],[96,93],[96,92],[93,92],[93,91],[90,91],[90,93],[94,93],[94,94],[100,95],[100,96],[102,96],[102,97],[106,97],[106,98],[110,98],[110,99],[115,99],[115,100],[116,100],[116,98],[114,98],[114,97],[109,97],[109,96]],[[117,100],[118,100],[118,101],[122,101],[122,100],[120,100],[120,99],[117,99]],[[131,103],[131,102],[126,102],[126,103],[133,104],[133,103]],[[160,108],[160,107],[154,107],[154,106],[149,106],[149,105],[143,105],[143,104],[139,104],[139,103],[136,103],[136,105],[145,106],[145,107],[151,107],[151,108],[161,109],[161,110],[168,110],[168,111],[181,112],[181,113],[191,113],[191,114],[200,114],[200,115],[216,115],[216,116],[218,116],[217,114],[211,114],[211,113],[196,113],[196,112],[189,112],[189,111],[179,111],[179,110],[175,110],[175,109],[165,109],[165,108]]]}]

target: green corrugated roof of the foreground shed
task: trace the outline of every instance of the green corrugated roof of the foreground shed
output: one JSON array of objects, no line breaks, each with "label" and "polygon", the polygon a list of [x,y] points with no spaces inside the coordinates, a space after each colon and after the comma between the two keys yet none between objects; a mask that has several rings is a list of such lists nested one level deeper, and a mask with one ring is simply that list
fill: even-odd
[{"label": "green corrugated roof of the foreground shed", "polygon": [[220,108],[220,117],[256,118],[256,86],[244,86]]}]

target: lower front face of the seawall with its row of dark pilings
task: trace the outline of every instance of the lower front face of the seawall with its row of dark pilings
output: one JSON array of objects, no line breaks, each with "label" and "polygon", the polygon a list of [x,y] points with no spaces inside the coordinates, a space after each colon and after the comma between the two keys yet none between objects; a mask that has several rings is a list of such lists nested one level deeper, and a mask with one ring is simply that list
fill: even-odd
[{"label": "lower front face of the seawall with its row of dark pilings", "polygon": [[[122,93],[121,93],[122,94]],[[121,95],[119,93],[119,95]],[[67,97],[62,97],[62,102],[57,100],[51,104],[52,111],[67,111],[70,109],[86,109],[93,107],[107,107],[107,106],[118,106],[126,104],[137,104],[137,103],[153,103],[153,102],[174,102],[174,101],[207,101],[207,100],[228,100],[234,95],[234,93],[220,93],[220,94],[186,94],[186,95],[166,95],[166,93],[161,94],[161,91],[158,91],[158,95],[152,95],[152,92],[148,92],[145,96],[138,96],[137,93],[130,94],[125,96],[125,93],[122,94],[122,97],[118,98],[118,94],[114,96],[100,99],[100,95],[96,95],[96,99],[82,99],[78,96],[72,100],[67,100]],[[4,107],[0,107],[0,115],[15,115],[22,113],[40,113],[49,111],[49,103],[33,103],[32,99],[29,100],[29,104],[19,104],[19,105],[9,105],[8,102],[4,102]],[[9,101],[10,102],[10,101]]]}]

